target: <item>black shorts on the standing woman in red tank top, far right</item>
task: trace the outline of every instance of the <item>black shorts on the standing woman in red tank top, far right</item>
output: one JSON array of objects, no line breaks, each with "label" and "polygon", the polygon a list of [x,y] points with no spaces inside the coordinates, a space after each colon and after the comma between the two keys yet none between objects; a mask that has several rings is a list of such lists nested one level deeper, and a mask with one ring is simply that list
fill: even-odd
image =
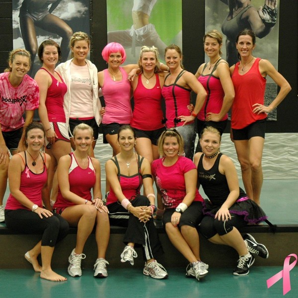
[{"label": "black shorts on the standing woman in red tank top, far right", "polygon": [[265,139],[265,131],[266,131],[266,119],[257,120],[256,122],[242,129],[232,129],[233,140],[243,141],[243,140],[249,140],[252,137],[261,137]]}]

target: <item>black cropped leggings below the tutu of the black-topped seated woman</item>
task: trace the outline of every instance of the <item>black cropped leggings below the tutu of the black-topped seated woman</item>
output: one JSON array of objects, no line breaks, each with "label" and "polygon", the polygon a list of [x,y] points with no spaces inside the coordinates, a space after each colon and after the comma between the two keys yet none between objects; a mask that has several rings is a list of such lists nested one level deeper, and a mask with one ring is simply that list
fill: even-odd
[{"label": "black cropped leggings below the tutu of the black-topped seated woman", "polygon": [[199,228],[203,236],[209,239],[216,234],[223,236],[230,232],[233,227],[238,229],[239,227],[245,226],[246,224],[247,222],[244,221],[244,216],[242,215],[231,214],[231,220],[224,222],[207,215],[204,216]]}]

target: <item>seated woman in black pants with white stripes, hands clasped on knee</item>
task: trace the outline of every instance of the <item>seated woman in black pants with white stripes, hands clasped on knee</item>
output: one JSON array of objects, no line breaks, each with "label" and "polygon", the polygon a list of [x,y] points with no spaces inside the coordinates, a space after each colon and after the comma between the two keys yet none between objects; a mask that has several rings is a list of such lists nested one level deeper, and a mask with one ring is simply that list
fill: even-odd
[{"label": "seated woman in black pants with white stripes, hands clasped on knee", "polygon": [[[166,270],[154,258],[162,248],[152,219],[156,207],[150,163],[134,151],[136,136],[131,126],[119,128],[118,145],[120,153],[106,162],[105,169],[111,186],[106,203],[110,223],[127,227],[121,262],[134,265],[138,256],[134,247],[142,246],[143,274],[155,279],[167,278]],[[142,185],[147,197],[140,195]]]}]

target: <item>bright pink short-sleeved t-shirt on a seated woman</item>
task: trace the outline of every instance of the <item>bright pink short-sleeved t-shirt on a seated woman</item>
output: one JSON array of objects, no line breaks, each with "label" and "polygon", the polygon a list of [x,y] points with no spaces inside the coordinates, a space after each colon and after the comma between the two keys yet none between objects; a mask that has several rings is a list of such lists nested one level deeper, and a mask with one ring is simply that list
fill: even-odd
[{"label": "bright pink short-sleeved t-shirt on a seated woman", "polygon": [[[171,166],[164,166],[162,161],[163,158],[153,160],[151,164],[152,175],[161,192],[165,208],[176,208],[186,196],[184,174],[196,169],[196,166],[184,156],[179,156],[178,160]],[[194,201],[203,201],[197,189]]]}]

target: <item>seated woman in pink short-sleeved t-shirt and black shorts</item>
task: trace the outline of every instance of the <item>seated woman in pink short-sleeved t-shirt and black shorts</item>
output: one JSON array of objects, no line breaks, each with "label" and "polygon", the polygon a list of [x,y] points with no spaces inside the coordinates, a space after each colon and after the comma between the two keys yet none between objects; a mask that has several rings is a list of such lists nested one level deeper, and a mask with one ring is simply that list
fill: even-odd
[{"label": "seated woman in pink short-sleeved t-shirt and black shorts", "polygon": [[[166,233],[173,245],[190,262],[187,277],[197,280],[207,275],[208,265],[201,261],[196,227],[203,218],[203,198],[196,189],[197,171],[183,154],[183,139],[175,130],[164,131],[158,140],[162,158],[153,160],[151,168],[157,191],[157,216],[162,216]],[[164,213],[163,213],[164,211]]]}]

